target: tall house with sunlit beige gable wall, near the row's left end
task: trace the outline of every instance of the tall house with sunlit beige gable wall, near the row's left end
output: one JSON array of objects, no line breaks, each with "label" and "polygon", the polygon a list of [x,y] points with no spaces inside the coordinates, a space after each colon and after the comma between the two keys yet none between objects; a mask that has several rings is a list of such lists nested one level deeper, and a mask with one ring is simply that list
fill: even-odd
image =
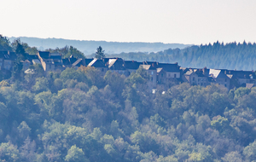
[{"label": "tall house with sunlit beige gable wall, near the row's left end", "polygon": [[61,54],[59,53],[49,53],[48,51],[38,51],[38,59],[44,68],[44,71],[63,71]]}]

